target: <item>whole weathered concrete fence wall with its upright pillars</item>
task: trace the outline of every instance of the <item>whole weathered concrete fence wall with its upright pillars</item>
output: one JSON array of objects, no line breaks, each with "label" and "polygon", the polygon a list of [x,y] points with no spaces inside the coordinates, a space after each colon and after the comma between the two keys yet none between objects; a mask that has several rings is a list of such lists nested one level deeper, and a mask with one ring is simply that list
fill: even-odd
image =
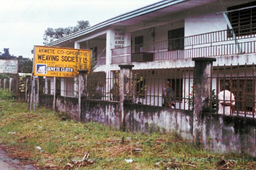
[{"label": "whole weathered concrete fence wall with its upright pillars", "polygon": [[[39,106],[67,112],[74,120],[99,122],[135,133],[176,133],[201,149],[215,152],[246,153],[255,156],[254,118],[225,116],[210,111],[210,74],[213,58],[193,59],[194,109],[170,109],[127,103],[132,65],[120,66],[119,102],[86,99],[87,71],[79,71],[78,98],[60,97],[57,79],[53,95],[39,95]],[[38,86],[40,87],[40,85]],[[41,91],[38,89],[38,91]]]}]

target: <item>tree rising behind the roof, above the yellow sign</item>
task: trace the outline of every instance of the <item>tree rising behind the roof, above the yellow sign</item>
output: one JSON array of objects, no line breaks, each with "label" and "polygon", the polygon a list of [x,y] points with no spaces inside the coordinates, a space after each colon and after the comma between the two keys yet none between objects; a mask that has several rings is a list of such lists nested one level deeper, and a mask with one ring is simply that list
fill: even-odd
[{"label": "tree rising behind the roof, above the yellow sign", "polygon": [[76,26],[68,26],[66,28],[59,27],[55,29],[49,27],[44,31],[43,44],[50,43],[54,40],[57,40],[79,30],[85,29],[89,26],[89,21],[79,20],[77,21]]}]

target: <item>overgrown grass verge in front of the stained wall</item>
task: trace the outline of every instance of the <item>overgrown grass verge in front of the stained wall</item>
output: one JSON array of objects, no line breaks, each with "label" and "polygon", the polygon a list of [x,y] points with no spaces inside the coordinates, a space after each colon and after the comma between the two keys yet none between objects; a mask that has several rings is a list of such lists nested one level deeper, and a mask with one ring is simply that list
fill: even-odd
[{"label": "overgrown grass verge in front of the stained wall", "polygon": [[[62,169],[71,160],[81,160],[86,151],[91,164],[79,169],[256,168],[251,158],[211,154],[175,135],[132,134],[98,123],[82,124],[45,108],[28,112],[26,103],[13,100],[0,100],[0,143],[15,157],[34,161],[41,169]],[[125,159],[133,162],[126,163]]]}]

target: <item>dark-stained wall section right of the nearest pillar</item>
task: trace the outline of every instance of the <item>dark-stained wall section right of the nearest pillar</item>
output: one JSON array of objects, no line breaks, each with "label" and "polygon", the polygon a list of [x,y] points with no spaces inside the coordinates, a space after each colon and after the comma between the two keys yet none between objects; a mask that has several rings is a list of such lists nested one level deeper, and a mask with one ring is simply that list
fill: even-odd
[{"label": "dark-stained wall section right of the nearest pillar", "polygon": [[255,119],[203,113],[202,125],[202,148],[256,156]]}]

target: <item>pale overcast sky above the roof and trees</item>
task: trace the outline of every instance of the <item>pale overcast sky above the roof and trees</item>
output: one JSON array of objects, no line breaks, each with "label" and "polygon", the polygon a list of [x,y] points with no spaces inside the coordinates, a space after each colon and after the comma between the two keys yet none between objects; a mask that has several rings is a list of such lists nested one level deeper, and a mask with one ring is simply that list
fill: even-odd
[{"label": "pale overcast sky above the roof and trees", "polygon": [[159,0],[0,0],[0,52],[33,58],[34,45],[43,45],[48,27],[90,25]]}]

